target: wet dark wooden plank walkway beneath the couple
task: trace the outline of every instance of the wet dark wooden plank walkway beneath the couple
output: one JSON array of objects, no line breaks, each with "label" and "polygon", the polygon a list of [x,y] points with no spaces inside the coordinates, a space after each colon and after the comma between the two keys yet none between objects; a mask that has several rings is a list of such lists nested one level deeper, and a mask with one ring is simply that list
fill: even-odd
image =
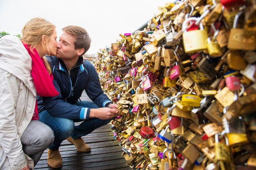
[{"label": "wet dark wooden plank walkway beneath the couple", "polygon": [[[86,100],[86,93],[83,93],[81,100]],[[79,123],[75,123],[77,125]],[[75,145],[67,140],[60,146],[62,155],[62,167],[50,168],[47,164],[47,150],[43,152],[35,169],[37,170],[131,170],[126,165],[126,160],[121,155],[119,142],[113,139],[110,125],[102,126],[83,137],[86,144],[91,147],[90,152],[78,152]]]}]

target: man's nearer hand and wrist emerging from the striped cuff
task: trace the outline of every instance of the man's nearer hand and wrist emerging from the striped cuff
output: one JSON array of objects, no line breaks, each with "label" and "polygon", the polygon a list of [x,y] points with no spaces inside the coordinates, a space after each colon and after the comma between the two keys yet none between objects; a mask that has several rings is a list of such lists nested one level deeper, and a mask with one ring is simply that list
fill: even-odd
[{"label": "man's nearer hand and wrist emerging from the striped cuff", "polygon": [[[113,104],[112,104],[113,105]],[[118,111],[116,111],[116,106],[111,106],[115,108],[98,108],[90,110],[90,118],[99,118],[101,120],[111,119],[118,116]]]}]

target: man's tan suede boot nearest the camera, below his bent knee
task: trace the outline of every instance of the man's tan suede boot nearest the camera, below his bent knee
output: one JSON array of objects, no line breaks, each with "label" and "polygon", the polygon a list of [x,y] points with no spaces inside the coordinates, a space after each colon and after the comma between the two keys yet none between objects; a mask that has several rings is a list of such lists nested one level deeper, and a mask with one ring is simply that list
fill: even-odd
[{"label": "man's tan suede boot nearest the camera, below his bent knee", "polygon": [[60,168],[62,166],[62,156],[59,150],[48,149],[47,163],[51,168]]}]

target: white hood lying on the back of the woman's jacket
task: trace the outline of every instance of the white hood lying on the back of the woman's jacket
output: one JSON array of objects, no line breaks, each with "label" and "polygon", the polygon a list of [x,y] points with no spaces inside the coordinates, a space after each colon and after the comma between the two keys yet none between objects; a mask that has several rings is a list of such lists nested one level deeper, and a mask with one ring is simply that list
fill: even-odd
[{"label": "white hood lying on the back of the woman's jacket", "polygon": [[17,36],[5,35],[0,38],[0,68],[22,80],[36,96],[31,75],[32,59]]}]

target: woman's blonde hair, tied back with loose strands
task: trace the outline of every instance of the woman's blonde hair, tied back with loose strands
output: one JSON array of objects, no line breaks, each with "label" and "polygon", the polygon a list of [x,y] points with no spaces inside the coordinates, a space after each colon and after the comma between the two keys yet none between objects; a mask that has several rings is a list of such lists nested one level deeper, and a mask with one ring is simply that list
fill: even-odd
[{"label": "woman's blonde hair, tied back with loose strands", "polygon": [[[40,45],[48,55],[50,55],[50,50],[43,43],[42,36],[46,36],[46,41],[50,39],[50,36],[55,30],[55,25],[43,18],[32,18],[29,20],[22,29],[22,41],[30,45],[30,49],[33,50],[36,46]],[[51,74],[51,67],[48,60],[43,57],[45,62],[45,67],[48,74]]]}]

